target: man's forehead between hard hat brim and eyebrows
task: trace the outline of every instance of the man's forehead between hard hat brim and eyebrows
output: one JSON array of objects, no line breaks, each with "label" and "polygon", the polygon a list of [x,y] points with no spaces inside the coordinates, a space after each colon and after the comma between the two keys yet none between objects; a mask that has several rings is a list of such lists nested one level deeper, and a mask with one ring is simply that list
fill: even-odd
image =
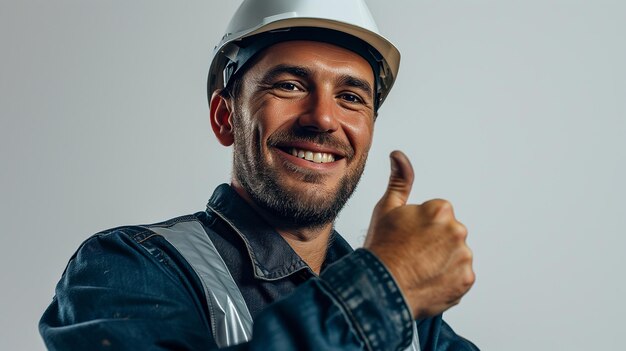
[{"label": "man's forehead between hard hat brim and eyebrows", "polygon": [[359,54],[317,41],[298,40],[274,44],[259,54],[250,70],[263,74],[279,65],[304,66],[317,74],[347,74],[372,84],[374,82],[372,67]]}]

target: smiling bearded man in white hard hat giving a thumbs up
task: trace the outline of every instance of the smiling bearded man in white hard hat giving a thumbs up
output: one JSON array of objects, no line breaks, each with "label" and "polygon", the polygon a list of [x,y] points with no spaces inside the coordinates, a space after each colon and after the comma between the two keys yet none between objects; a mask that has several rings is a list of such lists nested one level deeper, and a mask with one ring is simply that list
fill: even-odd
[{"label": "smiling bearded man in white hard hat giving a thumbs up", "polygon": [[208,82],[231,184],[204,212],[88,239],[42,317],[47,346],[475,350],[441,319],[474,281],[467,231],[444,200],[406,205],[404,154],[364,249],[333,230],[398,65],[363,1],[244,1]]}]

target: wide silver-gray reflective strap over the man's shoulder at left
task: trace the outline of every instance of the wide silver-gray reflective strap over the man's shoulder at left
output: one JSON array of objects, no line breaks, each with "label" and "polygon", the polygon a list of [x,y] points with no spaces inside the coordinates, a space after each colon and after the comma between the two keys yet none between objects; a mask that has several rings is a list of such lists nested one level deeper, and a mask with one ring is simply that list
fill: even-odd
[{"label": "wide silver-gray reflective strap over the man's shoulder at left", "polygon": [[163,236],[200,278],[217,346],[222,348],[250,340],[252,317],[246,302],[202,224],[191,220],[167,227],[145,228]]}]

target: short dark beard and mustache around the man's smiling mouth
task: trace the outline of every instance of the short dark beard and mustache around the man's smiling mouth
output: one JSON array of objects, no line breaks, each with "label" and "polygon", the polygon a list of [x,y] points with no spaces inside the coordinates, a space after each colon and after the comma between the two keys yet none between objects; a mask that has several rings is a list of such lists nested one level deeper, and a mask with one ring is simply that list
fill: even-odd
[{"label": "short dark beard and mustache around the man's smiling mouth", "polygon": [[[247,128],[238,108],[233,114],[234,176],[248,193],[252,201],[281,221],[284,228],[320,228],[335,221],[356,189],[367,159],[367,152],[354,160],[354,150],[328,133],[316,133],[304,129],[277,131],[267,141],[270,148],[279,142],[310,141],[339,149],[346,155],[346,162],[356,162],[356,167],[345,174],[331,195],[315,199],[304,193],[295,193],[284,188],[280,183],[276,169],[264,162],[262,144],[259,136]],[[290,168],[291,164],[285,164]],[[291,167],[294,173],[300,173],[303,186],[307,183],[319,183],[321,176],[315,173],[303,173]]]}]

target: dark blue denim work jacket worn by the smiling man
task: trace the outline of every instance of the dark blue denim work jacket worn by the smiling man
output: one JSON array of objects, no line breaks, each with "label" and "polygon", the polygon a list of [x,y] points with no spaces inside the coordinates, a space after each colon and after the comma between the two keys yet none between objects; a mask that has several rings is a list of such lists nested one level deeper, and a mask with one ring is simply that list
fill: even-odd
[{"label": "dark blue denim work jacket worn by the smiling man", "polygon": [[[338,233],[317,276],[227,184],[206,211],[163,224],[192,217],[254,318],[252,340],[229,350],[388,351],[411,342],[413,321],[389,272]],[[217,348],[210,313],[180,253],[149,229],[125,226],[80,246],[39,329],[53,350],[210,350]],[[418,321],[417,329],[423,351],[477,350],[441,316]]]}]

